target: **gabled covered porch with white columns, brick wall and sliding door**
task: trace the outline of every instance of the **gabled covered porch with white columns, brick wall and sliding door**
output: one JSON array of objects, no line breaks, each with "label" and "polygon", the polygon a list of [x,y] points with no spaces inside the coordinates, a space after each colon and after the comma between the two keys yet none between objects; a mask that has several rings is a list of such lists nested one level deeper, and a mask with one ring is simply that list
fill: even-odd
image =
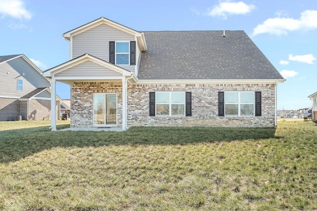
[{"label": "gabled covered porch with white columns, brick wall and sliding door", "polygon": [[[127,84],[135,82],[133,72],[84,54],[43,75],[51,79],[52,106],[56,82],[70,85],[70,128],[127,129]],[[55,115],[52,131],[56,130]]]}]

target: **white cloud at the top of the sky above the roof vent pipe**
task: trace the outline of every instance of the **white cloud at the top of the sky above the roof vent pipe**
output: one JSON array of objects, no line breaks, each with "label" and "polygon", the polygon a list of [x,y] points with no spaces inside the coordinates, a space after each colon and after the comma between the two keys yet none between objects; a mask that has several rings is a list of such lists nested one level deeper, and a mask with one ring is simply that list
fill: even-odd
[{"label": "white cloud at the top of the sky above the roof vent pipe", "polygon": [[231,14],[246,14],[251,12],[255,8],[252,4],[246,4],[242,1],[239,2],[220,2],[218,5],[215,5],[211,11],[208,12],[208,15],[211,16],[220,16],[224,19],[227,18],[227,15]]}]

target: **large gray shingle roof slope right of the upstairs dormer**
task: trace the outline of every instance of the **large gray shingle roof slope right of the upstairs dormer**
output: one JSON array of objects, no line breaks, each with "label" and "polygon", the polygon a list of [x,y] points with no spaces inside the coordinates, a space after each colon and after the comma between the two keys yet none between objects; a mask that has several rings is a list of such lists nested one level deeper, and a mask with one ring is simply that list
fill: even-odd
[{"label": "large gray shingle roof slope right of the upstairs dormer", "polygon": [[283,79],[244,31],[144,32],[139,79]]}]

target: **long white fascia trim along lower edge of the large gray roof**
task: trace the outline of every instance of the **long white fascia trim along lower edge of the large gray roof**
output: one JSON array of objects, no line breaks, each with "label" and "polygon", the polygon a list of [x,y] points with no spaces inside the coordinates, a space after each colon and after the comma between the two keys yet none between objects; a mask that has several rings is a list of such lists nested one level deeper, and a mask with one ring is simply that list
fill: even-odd
[{"label": "long white fascia trim along lower edge of the large gray roof", "polygon": [[137,80],[137,84],[277,84],[280,80]]}]

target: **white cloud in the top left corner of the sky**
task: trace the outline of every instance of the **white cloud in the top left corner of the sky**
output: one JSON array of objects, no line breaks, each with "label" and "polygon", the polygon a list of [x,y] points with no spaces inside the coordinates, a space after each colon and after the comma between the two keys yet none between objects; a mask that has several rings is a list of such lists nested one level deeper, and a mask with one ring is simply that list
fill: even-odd
[{"label": "white cloud in the top left corner of the sky", "polygon": [[2,18],[11,16],[20,20],[30,20],[32,14],[24,8],[22,0],[0,0],[0,14]]}]

